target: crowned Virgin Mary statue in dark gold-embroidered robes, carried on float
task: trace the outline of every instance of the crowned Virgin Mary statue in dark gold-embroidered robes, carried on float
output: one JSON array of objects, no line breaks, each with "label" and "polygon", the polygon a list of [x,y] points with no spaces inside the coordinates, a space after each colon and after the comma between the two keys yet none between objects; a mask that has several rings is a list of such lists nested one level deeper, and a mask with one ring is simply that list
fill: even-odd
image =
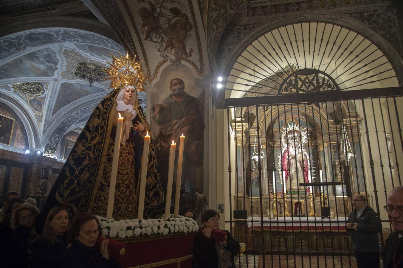
[{"label": "crowned Virgin Mary statue in dark gold-embroidered robes, carried on float", "polygon": [[[78,212],[106,215],[118,112],[124,120],[113,217],[137,217],[144,135],[150,130],[137,96],[137,91],[143,88],[141,83],[145,77],[141,73],[141,64],[131,61],[128,55],[125,58],[113,57],[113,65],[110,65],[112,67],[107,71],[112,76],[111,87],[114,90],[89,117],[50,191],[39,219],[46,218],[54,206],[69,208],[70,217]],[[122,67],[127,68],[118,72]],[[160,214],[164,202],[152,142],[146,168],[144,217],[148,218]]]}]

